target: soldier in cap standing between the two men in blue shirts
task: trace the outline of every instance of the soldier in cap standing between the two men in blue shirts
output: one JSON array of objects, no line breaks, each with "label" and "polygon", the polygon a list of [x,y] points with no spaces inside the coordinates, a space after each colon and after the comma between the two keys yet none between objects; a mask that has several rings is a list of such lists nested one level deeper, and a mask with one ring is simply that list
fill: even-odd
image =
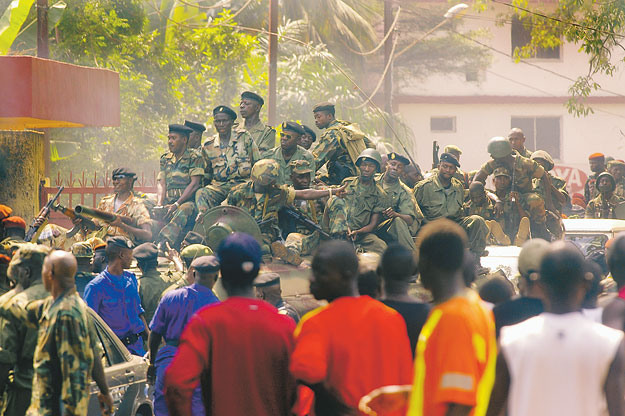
[{"label": "soldier in cap standing between the two men in blue shirts", "polygon": [[135,247],[132,255],[137,259],[137,267],[141,270],[141,277],[138,279],[139,298],[141,299],[141,306],[145,310],[145,321],[150,322],[161,294],[170,286],[171,282],[157,270],[158,247],[156,244],[143,243]]}]

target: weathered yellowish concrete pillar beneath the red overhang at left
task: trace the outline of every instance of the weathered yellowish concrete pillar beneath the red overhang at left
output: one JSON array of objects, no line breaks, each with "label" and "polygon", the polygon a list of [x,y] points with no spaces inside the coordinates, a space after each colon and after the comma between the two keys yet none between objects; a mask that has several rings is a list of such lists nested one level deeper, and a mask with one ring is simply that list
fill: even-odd
[{"label": "weathered yellowish concrete pillar beneath the red overhang at left", "polygon": [[0,204],[28,224],[39,212],[39,183],[44,179],[44,137],[24,130],[0,130]]}]

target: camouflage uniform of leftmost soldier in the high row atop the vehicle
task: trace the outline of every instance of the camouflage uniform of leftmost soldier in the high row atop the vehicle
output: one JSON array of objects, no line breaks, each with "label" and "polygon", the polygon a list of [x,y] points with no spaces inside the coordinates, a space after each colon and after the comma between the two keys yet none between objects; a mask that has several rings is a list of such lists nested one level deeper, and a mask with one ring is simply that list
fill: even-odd
[{"label": "camouflage uniform of leftmost soldier in the high row atop the vehicle", "polygon": [[[179,160],[174,159],[175,156],[171,152],[161,156],[158,180],[164,179],[167,186],[165,204],[173,204],[180,198],[191,183],[192,176],[204,175],[204,160],[197,151],[186,149]],[[194,214],[195,204],[192,196],[178,207],[169,223],[159,233],[158,239],[164,238],[170,244],[175,244],[189,220],[193,220]]]}]

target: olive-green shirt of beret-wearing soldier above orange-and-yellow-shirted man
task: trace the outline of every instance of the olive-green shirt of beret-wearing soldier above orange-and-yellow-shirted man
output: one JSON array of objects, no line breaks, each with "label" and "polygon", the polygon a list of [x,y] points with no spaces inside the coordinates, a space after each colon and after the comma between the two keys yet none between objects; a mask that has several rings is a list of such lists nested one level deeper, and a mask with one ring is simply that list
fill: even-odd
[{"label": "olive-green shirt of beret-wearing soldier above orange-and-yellow-shirted man", "polygon": [[459,220],[464,217],[464,187],[456,178],[451,178],[449,188],[445,188],[438,175],[430,176],[416,185],[414,195],[428,222],[439,218]]}]

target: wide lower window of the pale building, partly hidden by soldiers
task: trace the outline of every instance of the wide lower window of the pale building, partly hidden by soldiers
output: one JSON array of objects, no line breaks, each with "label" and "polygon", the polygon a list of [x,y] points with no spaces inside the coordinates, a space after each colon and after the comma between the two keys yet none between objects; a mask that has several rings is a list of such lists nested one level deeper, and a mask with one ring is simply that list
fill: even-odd
[{"label": "wide lower window of the pale building, partly hidden by soldiers", "polygon": [[525,133],[525,147],[529,150],[544,150],[560,159],[560,117],[511,117],[510,128],[514,127]]}]

